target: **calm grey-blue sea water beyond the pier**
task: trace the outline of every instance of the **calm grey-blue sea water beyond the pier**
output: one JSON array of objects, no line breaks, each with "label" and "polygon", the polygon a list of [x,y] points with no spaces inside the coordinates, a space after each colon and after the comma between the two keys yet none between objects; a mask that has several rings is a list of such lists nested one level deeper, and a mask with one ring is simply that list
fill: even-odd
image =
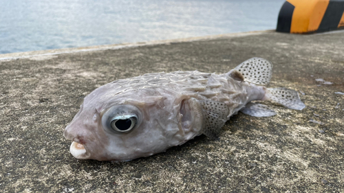
[{"label": "calm grey-blue sea water beyond the pier", "polygon": [[0,54],[275,29],[284,0],[1,0]]}]

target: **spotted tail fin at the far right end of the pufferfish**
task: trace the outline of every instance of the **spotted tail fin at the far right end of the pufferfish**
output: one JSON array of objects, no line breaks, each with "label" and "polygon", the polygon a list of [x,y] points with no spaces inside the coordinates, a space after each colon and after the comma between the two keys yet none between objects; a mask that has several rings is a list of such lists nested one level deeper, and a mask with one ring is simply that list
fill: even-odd
[{"label": "spotted tail fin at the far right end of the pufferfish", "polygon": [[267,89],[264,100],[272,100],[289,109],[302,110],[305,104],[300,100],[299,93],[285,88]]}]

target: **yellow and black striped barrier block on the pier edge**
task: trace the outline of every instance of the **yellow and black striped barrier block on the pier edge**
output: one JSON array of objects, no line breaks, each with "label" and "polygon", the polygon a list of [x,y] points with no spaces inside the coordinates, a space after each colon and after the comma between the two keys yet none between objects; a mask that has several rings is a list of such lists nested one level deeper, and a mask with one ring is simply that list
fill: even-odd
[{"label": "yellow and black striped barrier block on the pier edge", "polygon": [[277,32],[308,34],[344,29],[344,0],[288,0],[279,11]]}]

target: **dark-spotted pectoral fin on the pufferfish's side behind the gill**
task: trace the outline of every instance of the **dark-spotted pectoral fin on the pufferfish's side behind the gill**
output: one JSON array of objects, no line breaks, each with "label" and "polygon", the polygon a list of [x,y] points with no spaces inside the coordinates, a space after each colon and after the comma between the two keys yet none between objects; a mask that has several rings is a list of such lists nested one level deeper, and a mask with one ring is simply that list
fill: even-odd
[{"label": "dark-spotted pectoral fin on the pufferfish's side behind the gill", "polygon": [[227,121],[229,109],[226,103],[212,100],[200,101],[204,117],[202,133],[211,139],[219,137],[222,126]]}]

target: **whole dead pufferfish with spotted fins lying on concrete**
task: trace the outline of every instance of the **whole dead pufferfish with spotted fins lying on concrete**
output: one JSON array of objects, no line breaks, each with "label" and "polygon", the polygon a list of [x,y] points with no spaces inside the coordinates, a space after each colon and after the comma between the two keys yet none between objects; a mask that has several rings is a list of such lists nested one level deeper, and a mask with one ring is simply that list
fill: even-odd
[{"label": "whole dead pufferfish with spotted fins lying on concrete", "polygon": [[164,152],[197,135],[219,137],[230,116],[276,115],[272,100],[302,110],[297,91],[267,89],[272,63],[251,58],[228,73],[147,73],[115,80],[89,93],[63,136],[76,159],[129,161]]}]

